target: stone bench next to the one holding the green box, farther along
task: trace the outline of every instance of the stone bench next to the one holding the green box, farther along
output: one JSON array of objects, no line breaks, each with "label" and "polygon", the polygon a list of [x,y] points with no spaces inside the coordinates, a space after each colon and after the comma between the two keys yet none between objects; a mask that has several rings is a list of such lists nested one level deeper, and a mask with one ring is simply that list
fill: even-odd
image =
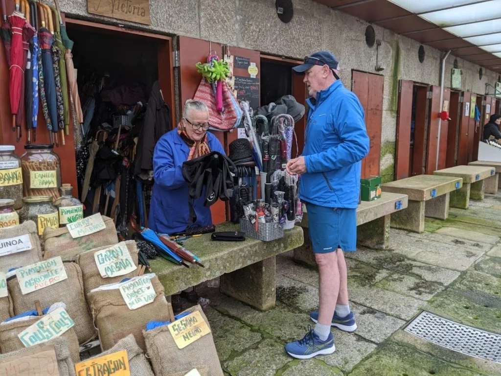
[{"label": "stone bench next to the one holding the green box, farther along", "polygon": [[391,227],[422,233],[424,217],[445,220],[449,217],[450,192],[463,185],[460,177],[416,175],[384,183],[383,192],[409,196],[407,209],[391,216]]}]

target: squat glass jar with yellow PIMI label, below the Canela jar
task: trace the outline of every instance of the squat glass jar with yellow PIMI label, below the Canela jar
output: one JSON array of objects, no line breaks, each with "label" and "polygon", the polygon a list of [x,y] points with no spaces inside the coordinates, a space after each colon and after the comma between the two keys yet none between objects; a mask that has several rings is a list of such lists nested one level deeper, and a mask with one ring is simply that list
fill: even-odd
[{"label": "squat glass jar with yellow PIMI label, below the Canela jar", "polygon": [[51,196],[24,197],[19,217],[21,223],[30,220],[35,222],[41,239],[46,227],[59,229],[59,212],[52,204]]}]

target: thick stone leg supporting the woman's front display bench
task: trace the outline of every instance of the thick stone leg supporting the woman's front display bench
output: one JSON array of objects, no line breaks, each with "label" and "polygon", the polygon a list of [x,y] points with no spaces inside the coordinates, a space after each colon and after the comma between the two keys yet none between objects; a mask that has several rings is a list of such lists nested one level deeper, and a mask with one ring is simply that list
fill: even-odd
[{"label": "thick stone leg supporting the woman's front display bench", "polygon": [[223,274],[219,291],[261,311],[275,307],[277,263],[275,256]]}]

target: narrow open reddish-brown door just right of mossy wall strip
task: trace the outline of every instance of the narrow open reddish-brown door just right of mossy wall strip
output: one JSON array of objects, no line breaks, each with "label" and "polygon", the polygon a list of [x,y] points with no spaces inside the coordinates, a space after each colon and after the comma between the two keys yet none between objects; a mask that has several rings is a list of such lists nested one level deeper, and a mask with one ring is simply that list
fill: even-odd
[{"label": "narrow open reddish-brown door just right of mossy wall strip", "polygon": [[400,80],[398,90],[395,144],[395,180],[409,176],[410,123],[412,118],[412,81]]}]

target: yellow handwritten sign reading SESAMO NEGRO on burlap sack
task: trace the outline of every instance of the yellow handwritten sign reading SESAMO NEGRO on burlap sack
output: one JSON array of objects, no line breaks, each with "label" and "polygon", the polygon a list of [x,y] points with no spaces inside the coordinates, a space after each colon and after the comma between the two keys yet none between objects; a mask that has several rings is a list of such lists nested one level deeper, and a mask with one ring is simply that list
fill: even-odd
[{"label": "yellow handwritten sign reading SESAMO NEGRO on burlap sack", "polygon": [[209,326],[198,311],[174,321],[167,327],[179,349],[210,333]]}]

